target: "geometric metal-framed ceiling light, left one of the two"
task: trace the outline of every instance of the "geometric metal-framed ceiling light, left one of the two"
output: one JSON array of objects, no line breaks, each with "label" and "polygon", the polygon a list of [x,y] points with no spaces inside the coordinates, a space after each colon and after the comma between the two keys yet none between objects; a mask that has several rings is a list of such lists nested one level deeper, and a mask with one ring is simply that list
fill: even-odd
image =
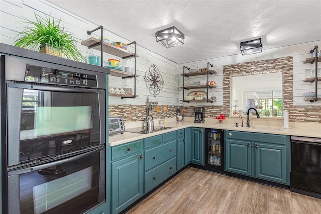
[{"label": "geometric metal-framed ceiling light, left one of the two", "polygon": [[164,45],[166,48],[184,44],[184,34],[174,26],[162,31],[157,31],[155,36],[156,42]]}]

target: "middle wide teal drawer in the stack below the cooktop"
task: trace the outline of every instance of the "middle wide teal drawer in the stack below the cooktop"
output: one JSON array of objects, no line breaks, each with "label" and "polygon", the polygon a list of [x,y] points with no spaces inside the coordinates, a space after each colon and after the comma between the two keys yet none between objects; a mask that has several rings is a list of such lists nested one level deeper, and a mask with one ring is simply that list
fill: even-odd
[{"label": "middle wide teal drawer in the stack below the cooktop", "polygon": [[145,171],[176,157],[176,140],[145,151]]}]

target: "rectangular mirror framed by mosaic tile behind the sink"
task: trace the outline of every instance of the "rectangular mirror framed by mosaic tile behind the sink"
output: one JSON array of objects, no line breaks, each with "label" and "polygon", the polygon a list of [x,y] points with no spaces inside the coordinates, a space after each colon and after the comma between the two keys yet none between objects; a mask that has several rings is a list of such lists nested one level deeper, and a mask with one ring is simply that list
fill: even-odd
[{"label": "rectangular mirror framed by mosaic tile behind the sink", "polygon": [[251,107],[260,117],[282,116],[282,72],[232,77],[232,115],[246,115]]}]

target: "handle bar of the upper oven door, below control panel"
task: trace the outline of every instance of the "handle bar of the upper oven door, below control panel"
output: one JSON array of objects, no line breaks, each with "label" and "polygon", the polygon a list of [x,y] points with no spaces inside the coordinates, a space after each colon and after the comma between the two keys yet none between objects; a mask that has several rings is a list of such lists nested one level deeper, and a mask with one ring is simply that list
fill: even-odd
[{"label": "handle bar of the upper oven door, below control panel", "polygon": [[105,93],[104,90],[98,89],[88,89],[81,87],[57,87],[51,85],[33,85],[33,84],[23,84],[23,83],[8,83],[9,87],[13,88],[24,88],[33,90],[47,90],[47,91],[58,91],[58,92],[76,92],[76,93]]}]

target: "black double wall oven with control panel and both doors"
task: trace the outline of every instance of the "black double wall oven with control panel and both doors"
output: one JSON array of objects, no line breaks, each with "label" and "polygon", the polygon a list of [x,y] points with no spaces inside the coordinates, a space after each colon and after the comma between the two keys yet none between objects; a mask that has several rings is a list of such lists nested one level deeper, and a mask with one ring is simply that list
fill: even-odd
[{"label": "black double wall oven with control panel and both doors", "polygon": [[81,213],[103,203],[106,74],[9,55],[1,60],[8,213]]}]

